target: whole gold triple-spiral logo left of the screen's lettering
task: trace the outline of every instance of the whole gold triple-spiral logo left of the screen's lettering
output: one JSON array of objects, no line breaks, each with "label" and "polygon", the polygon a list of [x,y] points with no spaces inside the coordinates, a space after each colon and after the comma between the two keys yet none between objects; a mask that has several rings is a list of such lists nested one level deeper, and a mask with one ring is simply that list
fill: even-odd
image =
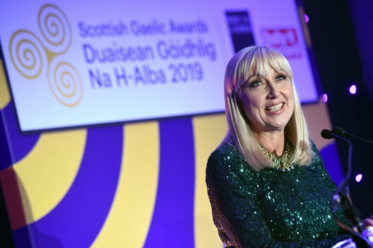
[{"label": "whole gold triple-spiral logo left of the screen's lettering", "polygon": [[47,65],[54,97],[65,106],[76,106],[82,99],[83,84],[76,68],[63,60],[71,44],[68,18],[57,6],[45,4],[39,10],[38,25],[40,38],[28,30],[12,35],[9,53],[13,65],[27,79],[38,78]]}]

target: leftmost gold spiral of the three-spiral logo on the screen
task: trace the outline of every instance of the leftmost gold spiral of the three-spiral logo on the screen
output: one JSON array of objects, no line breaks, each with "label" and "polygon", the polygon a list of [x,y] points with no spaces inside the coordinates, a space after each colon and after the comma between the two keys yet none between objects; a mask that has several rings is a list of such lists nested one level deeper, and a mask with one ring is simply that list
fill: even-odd
[{"label": "leftmost gold spiral of the three-spiral logo on the screen", "polygon": [[18,30],[10,39],[12,63],[25,78],[34,79],[40,75],[44,53],[40,40],[30,31]]}]

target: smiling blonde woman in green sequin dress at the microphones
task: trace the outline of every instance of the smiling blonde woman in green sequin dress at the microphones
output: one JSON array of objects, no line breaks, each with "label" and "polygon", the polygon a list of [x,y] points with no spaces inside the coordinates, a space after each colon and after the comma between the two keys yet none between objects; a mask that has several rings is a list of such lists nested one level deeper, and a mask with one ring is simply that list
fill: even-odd
[{"label": "smiling blonde woman in green sequin dress at the microphones", "polygon": [[229,130],[206,183],[225,246],[330,248],[349,238],[330,213],[335,184],[309,140],[286,58],[245,48],[228,63],[224,88]]}]

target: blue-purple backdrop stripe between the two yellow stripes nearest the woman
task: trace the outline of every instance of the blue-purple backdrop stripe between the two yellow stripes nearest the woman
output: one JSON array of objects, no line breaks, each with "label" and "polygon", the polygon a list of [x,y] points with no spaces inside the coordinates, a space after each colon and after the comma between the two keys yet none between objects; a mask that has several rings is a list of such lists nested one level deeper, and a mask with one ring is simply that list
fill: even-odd
[{"label": "blue-purple backdrop stripe between the two yellow stripes nearest the woman", "polygon": [[160,168],[152,223],[144,248],[194,247],[192,119],[162,120]]}]

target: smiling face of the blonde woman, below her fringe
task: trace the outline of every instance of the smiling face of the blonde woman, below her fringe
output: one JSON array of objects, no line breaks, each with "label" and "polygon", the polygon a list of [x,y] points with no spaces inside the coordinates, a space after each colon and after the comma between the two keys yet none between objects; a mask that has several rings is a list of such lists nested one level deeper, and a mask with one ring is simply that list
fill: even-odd
[{"label": "smiling face of the blonde woman, below her fringe", "polygon": [[282,131],[293,114],[294,96],[288,74],[252,75],[241,85],[240,101],[254,132]]}]

